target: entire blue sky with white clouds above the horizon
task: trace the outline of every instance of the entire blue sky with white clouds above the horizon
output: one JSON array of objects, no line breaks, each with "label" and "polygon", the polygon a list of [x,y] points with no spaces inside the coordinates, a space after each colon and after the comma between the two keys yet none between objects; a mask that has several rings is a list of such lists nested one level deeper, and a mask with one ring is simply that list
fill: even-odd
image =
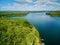
[{"label": "entire blue sky with white clouds above the horizon", "polygon": [[0,0],[0,11],[60,10],[60,0]]}]

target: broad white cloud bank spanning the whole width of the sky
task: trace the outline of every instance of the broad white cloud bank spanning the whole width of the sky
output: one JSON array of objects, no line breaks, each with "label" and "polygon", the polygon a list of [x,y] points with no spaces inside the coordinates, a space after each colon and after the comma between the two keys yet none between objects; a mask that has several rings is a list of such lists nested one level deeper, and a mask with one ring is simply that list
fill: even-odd
[{"label": "broad white cloud bank spanning the whole width of the sky", "polygon": [[[36,10],[36,11],[40,11],[40,10],[59,10],[60,9],[60,4],[57,2],[53,2],[51,0],[37,0],[35,2],[33,2],[32,0],[15,0],[18,2],[32,2],[35,3],[35,5],[30,6],[28,3],[26,4],[19,4],[14,2],[13,4],[8,3],[5,6],[1,6],[0,5],[0,9],[1,10],[18,10],[18,11],[25,11],[25,10]],[[47,5],[47,4],[51,4],[51,5]]]}]

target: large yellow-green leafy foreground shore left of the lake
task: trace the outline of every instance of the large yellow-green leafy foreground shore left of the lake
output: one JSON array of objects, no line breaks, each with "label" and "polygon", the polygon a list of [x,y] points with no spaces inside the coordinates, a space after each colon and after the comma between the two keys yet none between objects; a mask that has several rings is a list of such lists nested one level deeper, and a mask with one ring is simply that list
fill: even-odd
[{"label": "large yellow-green leafy foreground shore left of the lake", "polygon": [[0,45],[38,45],[39,33],[22,18],[0,18]]}]

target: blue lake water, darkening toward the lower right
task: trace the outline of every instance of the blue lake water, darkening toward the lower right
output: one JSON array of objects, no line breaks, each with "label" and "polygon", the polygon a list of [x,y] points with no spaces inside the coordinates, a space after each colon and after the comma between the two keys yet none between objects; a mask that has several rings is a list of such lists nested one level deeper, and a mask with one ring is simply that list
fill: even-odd
[{"label": "blue lake water, darkening toward the lower right", "polygon": [[45,13],[29,13],[26,16],[13,18],[25,18],[31,22],[44,39],[45,45],[60,45],[60,17],[51,17]]}]

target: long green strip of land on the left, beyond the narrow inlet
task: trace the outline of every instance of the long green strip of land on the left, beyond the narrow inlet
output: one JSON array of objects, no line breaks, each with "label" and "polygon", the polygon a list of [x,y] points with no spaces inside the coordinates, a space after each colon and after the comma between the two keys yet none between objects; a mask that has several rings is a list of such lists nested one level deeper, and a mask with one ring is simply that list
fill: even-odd
[{"label": "long green strip of land on the left, beyond the narrow inlet", "polygon": [[0,17],[4,16],[22,16],[22,15],[27,15],[29,12],[23,12],[23,11],[1,11],[0,12]]}]

